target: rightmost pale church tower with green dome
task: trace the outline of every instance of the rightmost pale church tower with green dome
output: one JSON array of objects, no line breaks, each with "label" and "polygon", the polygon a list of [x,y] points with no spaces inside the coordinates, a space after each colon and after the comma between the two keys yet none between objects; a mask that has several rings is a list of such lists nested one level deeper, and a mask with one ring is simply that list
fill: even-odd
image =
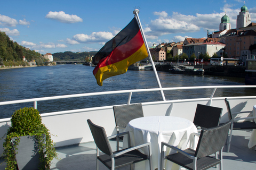
[{"label": "rightmost pale church tower with green dome", "polygon": [[241,7],[241,12],[239,12],[239,15],[237,15],[236,29],[247,27],[247,25],[249,25],[251,22],[251,16],[248,8],[244,5]]}]

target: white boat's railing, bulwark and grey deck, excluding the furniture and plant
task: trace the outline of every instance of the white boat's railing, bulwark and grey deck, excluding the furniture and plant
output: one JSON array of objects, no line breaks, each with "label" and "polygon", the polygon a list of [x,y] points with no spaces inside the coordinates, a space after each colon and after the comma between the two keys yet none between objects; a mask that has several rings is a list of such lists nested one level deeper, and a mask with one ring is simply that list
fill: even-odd
[{"label": "white boat's railing, bulwark and grey deck, excluding the furniture and plant", "polygon": [[[227,89],[240,91],[242,95],[225,93]],[[172,94],[174,91],[180,91],[185,95],[185,99],[159,100],[160,92]],[[250,90],[246,92],[246,90]],[[193,92],[202,93],[207,97],[195,98]],[[225,94],[225,96],[214,95]],[[133,89],[121,91],[92,92],[87,94],[50,96],[43,98],[2,101],[1,105],[12,105],[18,103],[34,103],[37,108],[37,102],[43,100],[61,99],[79,97],[100,98],[102,95],[110,95],[114,98],[118,95],[126,95],[127,102],[130,104],[134,94],[152,93],[151,101],[142,103],[144,116],[178,116],[193,121],[197,104],[222,107],[222,116],[220,123],[228,121],[228,113],[225,104],[225,98],[228,98],[233,112],[252,111],[256,105],[256,86],[199,86],[199,87],[172,87],[172,88],[154,88],[154,89]],[[155,95],[156,97],[154,97]],[[250,96],[249,96],[250,95]],[[203,96],[203,95],[202,95]],[[39,102],[38,102],[39,104]],[[241,107],[240,107],[241,106]],[[113,106],[102,106],[84,109],[72,109],[61,112],[52,112],[41,114],[43,123],[53,134],[52,139],[55,142],[60,160],[54,159],[51,169],[95,169],[95,144],[92,134],[86,122],[90,119],[93,123],[103,126],[107,135],[116,134],[115,118]],[[3,137],[10,126],[10,118],[0,120],[0,136]],[[256,151],[254,147],[247,147],[251,137],[251,130],[233,131],[234,137],[231,141],[230,152],[223,150],[223,169],[255,169],[256,168]],[[3,145],[4,140],[0,140]],[[2,154],[3,148],[0,152]],[[5,164],[0,165],[4,169]],[[125,169],[125,168],[124,168]]]}]

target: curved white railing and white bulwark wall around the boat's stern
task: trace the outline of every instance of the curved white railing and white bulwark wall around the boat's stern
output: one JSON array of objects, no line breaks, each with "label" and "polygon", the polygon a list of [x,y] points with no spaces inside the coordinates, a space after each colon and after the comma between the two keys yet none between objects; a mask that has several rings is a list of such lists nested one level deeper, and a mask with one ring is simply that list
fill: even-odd
[{"label": "curved white railing and white bulwark wall around the boat's stern", "polygon": [[[227,96],[214,97],[217,94],[217,89],[221,91],[227,91],[228,89],[235,88],[234,92],[242,91],[242,96],[234,96],[230,93]],[[250,89],[250,96],[243,92],[244,89]],[[252,90],[253,88],[253,90]],[[199,90],[196,90],[199,89]],[[207,95],[203,96],[205,90]],[[171,94],[180,91],[185,98],[182,99],[169,99],[169,100],[154,100],[146,101],[142,103],[143,114],[145,116],[178,116],[187,118],[193,121],[195,109],[197,104],[210,105],[215,107],[223,108],[221,122],[226,122],[228,120],[227,109],[224,99],[227,97],[230,101],[231,108],[234,112],[244,111],[245,109],[252,110],[253,106],[256,104],[256,86],[197,86],[197,87],[172,87],[172,88],[155,88],[155,89],[133,89],[133,90],[120,90],[120,91],[106,91],[106,92],[92,92],[87,94],[76,94],[76,95],[64,95],[64,96],[53,96],[53,97],[42,97],[24,100],[14,100],[14,101],[3,101],[0,102],[0,106],[29,103],[33,102],[34,107],[37,107],[37,101],[44,100],[55,100],[55,99],[65,99],[65,98],[78,98],[86,96],[101,96],[101,95],[117,95],[117,94],[127,94],[127,100],[124,104],[130,104],[133,94],[139,92],[149,92],[149,91],[161,91],[163,90],[165,94],[170,91]],[[198,98],[191,98],[189,92],[198,91]],[[219,90],[218,90],[219,91]],[[255,91],[255,94],[254,94]],[[170,93],[169,92],[169,93]],[[173,93],[172,93],[173,92]],[[232,91],[231,91],[232,92]],[[159,93],[160,95],[160,93]],[[159,96],[158,95],[158,96]],[[244,96],[243,96],[244,95]],[[134,95],[136,96],[136,95]],[[159,98],[158,98],[159,99]],[[79,100],[79,99],[78,99]],[[39,104],[38,104],[39,105]],[[49,104],[50,105],[50,104]],[[91,108],[73,109],[66,111],[58,111],[51,113],[41,114],[43,123],[53,134],[52,140],[56,143],[57,147],[74,145],[77,143],[90,142],[93,141],[90,129],[86,123],[87,119],[92,120],[95,124],[101,125],[105,128],[107,135],[115,134],[115,118],[112,106],[99,106]],[[3,137],[7,129],[11,125],[10,118],[3,118],[0,120],[0,137]],[[3,145],[4,139],[0,140],[0,145]],[[2,150],[0,148],[0,154]]]}]

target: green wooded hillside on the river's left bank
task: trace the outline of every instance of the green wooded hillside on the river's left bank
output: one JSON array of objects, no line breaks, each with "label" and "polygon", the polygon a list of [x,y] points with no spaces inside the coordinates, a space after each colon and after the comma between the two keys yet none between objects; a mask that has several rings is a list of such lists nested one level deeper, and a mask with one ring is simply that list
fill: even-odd
[{"label": "green wooded hillside on the river's left bank", "polygon": [[[23,56],[28,62],[41,61],[41,54],[34,50],[29,50],[26,47],[20,46],[17,42],[11,40],[5,32],[0,31],[0,65],[27,65],[23,62]],[[43,62],[42,62],[43,63]]]}]

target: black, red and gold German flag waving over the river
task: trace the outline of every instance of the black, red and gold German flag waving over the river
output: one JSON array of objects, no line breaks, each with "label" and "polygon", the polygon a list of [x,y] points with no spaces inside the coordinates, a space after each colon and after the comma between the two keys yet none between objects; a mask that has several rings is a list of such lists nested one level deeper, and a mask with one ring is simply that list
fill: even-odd
[{"label": "black, red and gold German flag waving over the river", "polygon": [[93,57],[92,63],[97,65],[93,70],[99,86],[102,81],[119,74],[126,73],[128,67],[148,57],[139,25],[135,19],[109,40]]}]

